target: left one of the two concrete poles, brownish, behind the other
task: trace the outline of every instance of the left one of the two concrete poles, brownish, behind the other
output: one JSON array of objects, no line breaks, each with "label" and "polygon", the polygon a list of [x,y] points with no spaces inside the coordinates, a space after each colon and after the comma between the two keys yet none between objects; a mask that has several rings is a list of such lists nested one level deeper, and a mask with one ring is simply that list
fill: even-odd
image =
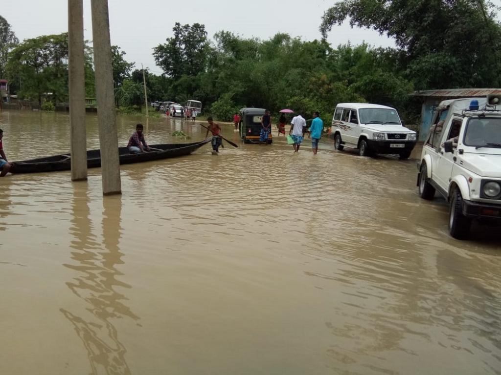
[{"label": "left one of the two concrete poles, brownish, behind the other", "polygon": [[87,179],[85,131],[84,9],[82,0],[68,0],[71,179]]}]

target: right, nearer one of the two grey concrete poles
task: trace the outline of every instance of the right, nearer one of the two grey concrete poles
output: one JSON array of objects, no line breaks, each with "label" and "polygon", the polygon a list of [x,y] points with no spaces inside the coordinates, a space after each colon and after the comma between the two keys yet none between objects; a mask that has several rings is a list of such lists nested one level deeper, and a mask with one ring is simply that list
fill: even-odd
[{"label": "right, nearer one of the two grey concrete poles", "polygon": [[103,194],[120,194],[122,190],[115,119],[113,69],[111,66],[108,0],[91,0],[91,9]]}]

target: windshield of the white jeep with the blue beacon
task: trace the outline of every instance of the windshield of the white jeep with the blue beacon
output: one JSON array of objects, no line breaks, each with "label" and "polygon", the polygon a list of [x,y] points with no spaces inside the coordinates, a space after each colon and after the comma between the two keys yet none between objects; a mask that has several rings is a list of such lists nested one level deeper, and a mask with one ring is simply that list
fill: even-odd
[{"label": "windshield of the white jeep with the blue beacon", "polygon": [[463,143],[475,148],[501,148],[501,118],[471,118],[466,124]]}]

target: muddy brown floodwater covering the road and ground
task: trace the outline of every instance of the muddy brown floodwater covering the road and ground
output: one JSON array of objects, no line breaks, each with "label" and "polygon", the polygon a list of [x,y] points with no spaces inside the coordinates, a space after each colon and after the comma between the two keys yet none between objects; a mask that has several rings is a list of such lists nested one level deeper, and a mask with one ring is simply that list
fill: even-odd
[{"label": "muddy brown floodwater covering the road and ground", "polygon": [[[0,128],[10,160],[69,150],[66,114]],[[146,138],[174,129],[205,135]],[[450,238],[415,159],[331,142],[124,165],[106,198],[100,169],[0,179],[0,374],[501,373],[501,234]]]}]

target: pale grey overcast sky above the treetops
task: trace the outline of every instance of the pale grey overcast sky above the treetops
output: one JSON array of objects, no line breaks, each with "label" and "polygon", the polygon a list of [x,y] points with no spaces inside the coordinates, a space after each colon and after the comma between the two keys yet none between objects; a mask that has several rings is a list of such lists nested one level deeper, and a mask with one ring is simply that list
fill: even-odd
[{"label": "pale grey overcast sky above the treetops", "polygon": [[[11,24],[20,40],[68,30],[66,0],[0,0],[0,15]],[[277,32],[301,36],[305,40],[321,37],[319,25],[324,11],[336,0],[108,0],[111,43],[120,46],[128,61],[141,63],[159,74],[152,48],[172,35],[175,22],[203,23],[212,39],[219,30],[243,37],[268,39]],[[496,3],[501,0],[494,1]],[[92,39],[90,0],[84,0],[85,38]],[[374,46],[393,46],[391,38],[373,30],[350,28],[346,22],[333,27],[328,38],[334,46],[366,41]]]}]

